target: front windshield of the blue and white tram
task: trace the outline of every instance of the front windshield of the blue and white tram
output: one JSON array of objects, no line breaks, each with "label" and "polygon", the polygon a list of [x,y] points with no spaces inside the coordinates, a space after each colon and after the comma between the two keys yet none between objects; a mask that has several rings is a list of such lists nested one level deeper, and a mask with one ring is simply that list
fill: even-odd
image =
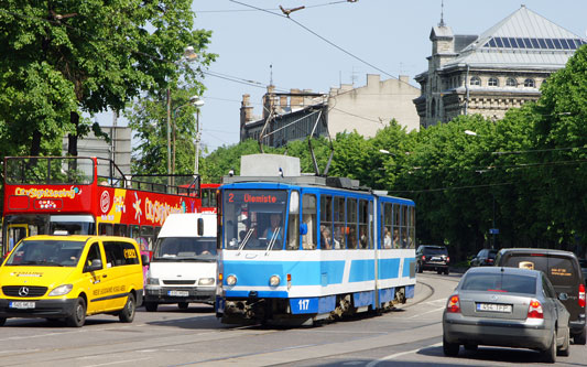
[{"label": "front windshield of the blue and white tram", "polygon": [[225,249],[283,249],[286,191],[227,190],[222,199]]}]

